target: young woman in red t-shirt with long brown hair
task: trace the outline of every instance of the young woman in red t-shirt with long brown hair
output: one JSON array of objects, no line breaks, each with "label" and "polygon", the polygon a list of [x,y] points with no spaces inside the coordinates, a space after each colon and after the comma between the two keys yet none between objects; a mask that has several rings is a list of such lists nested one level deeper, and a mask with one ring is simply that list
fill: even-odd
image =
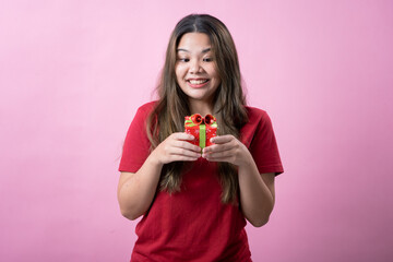
[{"label": "young woman in red t-shirt with long brown hair", "polygon": [[[234,40],[217,19],[183,17],[166,52],[159,99],[141,106],[119,171],[123,216],[135,219],[131,261],[251,261],[246,219],[267,223],[282,174],[272,122],[246,106]],[[190,143],[184,117],[213,115],[213,145]]]}]

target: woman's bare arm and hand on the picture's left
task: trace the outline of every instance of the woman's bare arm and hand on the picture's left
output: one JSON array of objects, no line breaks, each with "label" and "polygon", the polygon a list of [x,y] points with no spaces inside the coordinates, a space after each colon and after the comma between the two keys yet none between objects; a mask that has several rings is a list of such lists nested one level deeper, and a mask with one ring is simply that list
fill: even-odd
[{"label": "woman's bare arm and hand on the picture's left", "polygon": [[176,160],[196,160],[201,147],[187,141],[191,134],[174,133],[163,141],[136,172],[121,172],[118,202],[121,214],[129,219],[143,215],[153,202],[164,164]]}]

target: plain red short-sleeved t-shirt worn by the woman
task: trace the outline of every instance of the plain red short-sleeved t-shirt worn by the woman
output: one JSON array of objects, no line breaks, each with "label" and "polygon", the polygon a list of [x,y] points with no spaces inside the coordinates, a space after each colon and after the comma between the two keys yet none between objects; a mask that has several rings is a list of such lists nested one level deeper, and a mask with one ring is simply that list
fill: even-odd
[{"label": "plain red short-sleeved t-shirt worn by the woman", "polygon": [[[128,130],[119,171],[136,172],[148,156],[145,120],[154,102],[138,109]],[[261,174],[282,174],[277,144],[267,114],[247,107],[249,122],[240,140],[250,150]],[[219,128],[219,127],[218,127]],[[182,176],[181,191],[157,191],[136,225],[131,261],[251,261],[246,219],[238,205],[221,202],[216,163],[199,158]]]}]

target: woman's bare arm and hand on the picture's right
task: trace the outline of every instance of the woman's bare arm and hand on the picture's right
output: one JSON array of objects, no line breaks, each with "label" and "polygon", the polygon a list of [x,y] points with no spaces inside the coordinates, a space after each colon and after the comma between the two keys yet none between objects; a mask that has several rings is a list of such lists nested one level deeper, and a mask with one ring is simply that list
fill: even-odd
[{"label": "woman's bare arm and hand on the picture's right", "polygon": [[274,172],[259,174],[251,153],[234,135],[216,136],[212,142],[215,145],[205,147],[202,156],[238,166],[242,213],[253,226],[263,226],[274,207]]}]

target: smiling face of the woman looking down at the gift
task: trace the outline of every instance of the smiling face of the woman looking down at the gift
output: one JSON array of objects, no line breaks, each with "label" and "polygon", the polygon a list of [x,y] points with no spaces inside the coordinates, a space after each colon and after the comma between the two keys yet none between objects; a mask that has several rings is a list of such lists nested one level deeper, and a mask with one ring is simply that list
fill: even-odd
[{"label": "smiling face of the woman looking down at the gift", "polygon": [[184,34],[177,47],[176,80],[192,103],[212,105],[221,84],[216,62],[206,34]]}]

